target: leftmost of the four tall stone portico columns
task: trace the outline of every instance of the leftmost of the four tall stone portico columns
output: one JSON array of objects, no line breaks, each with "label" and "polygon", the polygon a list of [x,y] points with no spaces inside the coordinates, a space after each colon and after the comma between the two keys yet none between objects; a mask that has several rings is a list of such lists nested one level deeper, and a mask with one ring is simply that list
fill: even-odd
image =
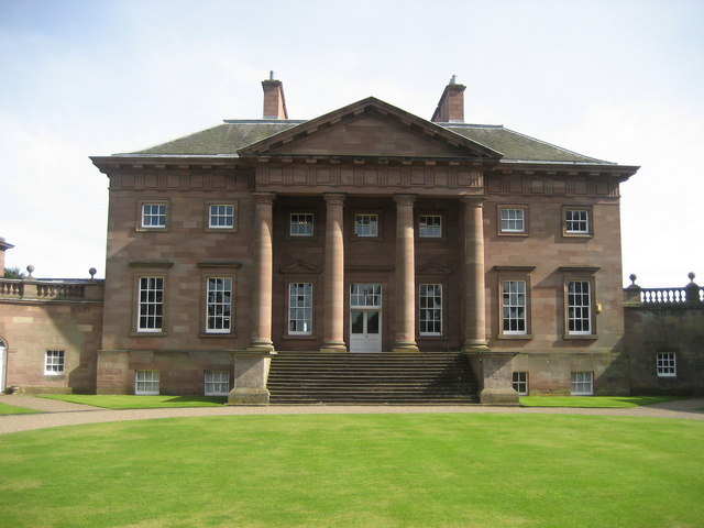
[{"label": "leftmost of the four tall stone portico columns", "polygon": [[254,295],[252,341],[249,350],[272,351],[272,283],[274,252],[272,240],[273,193],[254,193]]}]

